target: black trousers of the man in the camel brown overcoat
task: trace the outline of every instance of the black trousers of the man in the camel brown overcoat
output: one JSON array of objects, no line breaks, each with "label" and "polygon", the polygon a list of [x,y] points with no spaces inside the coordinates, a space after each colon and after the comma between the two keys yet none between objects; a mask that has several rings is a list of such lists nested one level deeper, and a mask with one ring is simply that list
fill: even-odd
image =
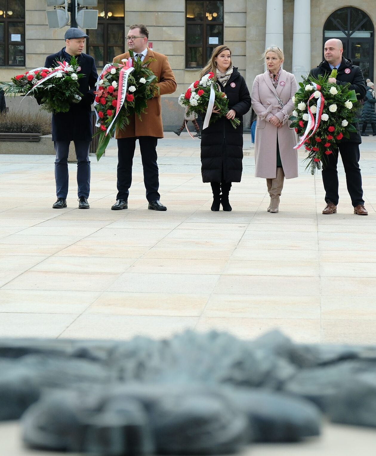
[{"label": "black trousers of the man in the camel brown overcoat", "polygon": [[144,185],[146,199],[155,201],[160,199],[158,193],[159,178],[157,165],[157,138],[154,136],[138,136],[118,139],[118,195],[117,200],[128,200],[129,188],[132,184],[132,163],[136,140],[139,140],[142,166],[144,168]]}]

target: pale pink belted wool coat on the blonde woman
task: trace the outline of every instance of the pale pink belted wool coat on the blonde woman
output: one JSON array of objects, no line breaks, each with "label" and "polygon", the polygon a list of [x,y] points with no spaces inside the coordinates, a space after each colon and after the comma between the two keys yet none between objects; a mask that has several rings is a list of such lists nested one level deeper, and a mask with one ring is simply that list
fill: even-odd
[{"label": "pale pink belted wool coat on the blonde woman", "polygon": [[[298,177],[298,154],[295,130],[290,129],[289,116],[294,110],[291,100],[298,90],[294,74],[281,71],[277,89],[274,88],[268,70],[256,76],[252,86],[252,108],[257,114],[255,135],[256,177],[273,179],[277,173],[277,135],[279,154],[286,179]],[[282,100],[284,107],[278,104],[274,93]],[[281,128],[269,122],[275,115],[283,123]]]}]

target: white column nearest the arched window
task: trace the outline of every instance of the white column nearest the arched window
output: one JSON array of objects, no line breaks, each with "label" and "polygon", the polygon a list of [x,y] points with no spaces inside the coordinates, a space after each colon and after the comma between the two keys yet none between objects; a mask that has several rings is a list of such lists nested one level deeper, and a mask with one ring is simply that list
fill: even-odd
[{"label": "white column nearest the arched window", "polygon": [[296,80],[311,69],[311,0],[294,1],[293,73]]}]

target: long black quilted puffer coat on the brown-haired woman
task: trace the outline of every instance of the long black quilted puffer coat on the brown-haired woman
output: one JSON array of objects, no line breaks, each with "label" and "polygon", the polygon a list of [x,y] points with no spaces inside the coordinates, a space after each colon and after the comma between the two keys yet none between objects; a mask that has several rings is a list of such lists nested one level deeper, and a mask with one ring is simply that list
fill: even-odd
[{"label": "long black quilted puffer coat on the brown-haired woman", "polygon": [[[218,82],[219,83],[219,82]],[[242,75],[234,67],[225,87],[228,109],[234,109],[241,124],[234,129],[222,117],[201,132],[201,174],[203,182],[221,182],[222,166],[226,182],[240,182],[243,160],[243,115],[251,109],[251,96]]]}]

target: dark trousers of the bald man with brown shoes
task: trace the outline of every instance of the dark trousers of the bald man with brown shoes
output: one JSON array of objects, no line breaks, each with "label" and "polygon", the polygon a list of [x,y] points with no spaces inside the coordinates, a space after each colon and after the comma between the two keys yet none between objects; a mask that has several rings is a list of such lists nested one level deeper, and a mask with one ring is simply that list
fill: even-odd
[{"label": "dark trousers of the bald man with brown shoes", "polygon": [[[345,142],[339,145],[342,163],[345,168],[347,190],[351,197],[354,207],[364,204],[363,189],[361,182],[361,169],[359,167],[359,144]],[[325,155],[327,160],[322,162],[322,176],[325,189],[325,201],[337,205],[338,195],[338,151],[330,155]]]}]

